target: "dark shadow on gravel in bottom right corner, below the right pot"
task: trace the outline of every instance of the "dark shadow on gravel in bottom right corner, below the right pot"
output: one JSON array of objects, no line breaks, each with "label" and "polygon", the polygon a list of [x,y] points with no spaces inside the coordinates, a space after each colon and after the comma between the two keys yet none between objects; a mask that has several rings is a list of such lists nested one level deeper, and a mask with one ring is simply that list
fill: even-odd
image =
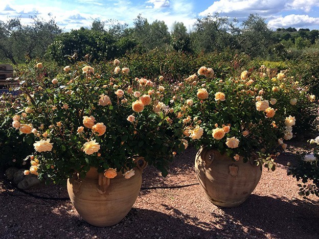
[{"label": "dark shadow on gravel in bottom right corner, below the right pot", "polygon": [[318,238],[319,203],[317,201],[289,201],[285,197],[251,195],[237,208],[221,208],[222,216],[214,214],[216,224],[248,228],[260,238]]}]

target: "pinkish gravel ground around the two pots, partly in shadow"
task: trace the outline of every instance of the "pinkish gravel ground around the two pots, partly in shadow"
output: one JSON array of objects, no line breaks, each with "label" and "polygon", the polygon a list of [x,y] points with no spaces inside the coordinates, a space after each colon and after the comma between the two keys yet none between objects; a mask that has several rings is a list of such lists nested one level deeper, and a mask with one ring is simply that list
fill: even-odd
[{"label": "pinkish gravel ground around the two pots, partly in shadow", "polygon": [[[198,184],[145,189],[117,225],[94,227],[83,221],[69,200],[35,199],[0,179],[0,238],[318,238],[319,203],[298,196],[287,162],[308,146],[292,142],[280,155],[275,172],[263,171],[254,193],[237,208],[212,204]],[[194,157],[188,149],[176,157],[164,179],[150,166],[142,187],[196,183]],[[163,181],[164,180],[164,181]],[[67,197],[65,187],[50,185],[29,191],[42,197]]]}]

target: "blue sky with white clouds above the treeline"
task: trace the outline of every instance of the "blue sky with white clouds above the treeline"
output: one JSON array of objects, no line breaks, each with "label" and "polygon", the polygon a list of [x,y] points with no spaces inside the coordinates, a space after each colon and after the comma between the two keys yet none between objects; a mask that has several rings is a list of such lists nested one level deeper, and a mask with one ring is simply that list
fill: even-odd
[{"label": "blue sky with white clouds above the treeline", "polygon": [[51,14],[64,31],[89,27],[95,18],[131,26],[140,13],[149,22],[164,20],[171,28],[181,21],[191,30],[196,18],[215,12],[240,21],[258,13],[272,29],[319,29],[319,0],[0,0],[0,20],[20,16],[28,23],[30,15],[48,19]]}]

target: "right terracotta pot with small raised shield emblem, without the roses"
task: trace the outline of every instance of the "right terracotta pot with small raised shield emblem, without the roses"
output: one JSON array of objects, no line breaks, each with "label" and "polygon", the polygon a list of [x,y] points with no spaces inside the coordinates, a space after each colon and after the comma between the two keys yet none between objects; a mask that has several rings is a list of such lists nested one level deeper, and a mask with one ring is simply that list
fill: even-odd
[{"label": "right terracotta pot with small raised shield emblem, without the roses", "polygon": [[253,160],[234,161],[217,150],[200,148],[195,158],[199,184],[209,200],[217,206],[236,207],[242,204],[257,186],[260,166]]}]

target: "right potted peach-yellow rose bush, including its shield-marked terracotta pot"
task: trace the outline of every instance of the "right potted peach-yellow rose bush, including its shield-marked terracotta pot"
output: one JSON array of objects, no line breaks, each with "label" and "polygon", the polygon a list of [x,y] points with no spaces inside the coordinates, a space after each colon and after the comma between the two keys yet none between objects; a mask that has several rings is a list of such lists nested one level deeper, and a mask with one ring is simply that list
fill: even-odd
[{"label": "right potted peach-yellow rose bush, including its shield-marked terracotta pot", "polygon": [[198,181],[208,198],[223,207],[248,198],[262,165],[275,170],[276,157],[293,137],[290,112],[301,102],[310,103],[292,78],[278,74],[269,79],[260,71],[217,79],[212,68],[203,66],[176,87],[184,134],[200,148]]}]

